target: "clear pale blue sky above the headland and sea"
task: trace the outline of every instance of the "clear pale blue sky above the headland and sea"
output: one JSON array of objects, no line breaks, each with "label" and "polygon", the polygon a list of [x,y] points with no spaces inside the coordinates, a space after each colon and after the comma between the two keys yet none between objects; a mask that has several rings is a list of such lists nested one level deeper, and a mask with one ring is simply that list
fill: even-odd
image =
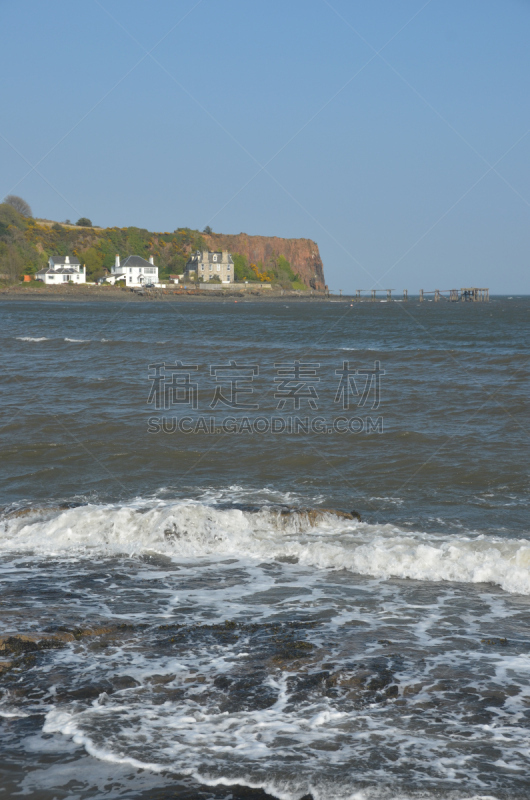
[{"label": "clear pale blue sky above the headland and sea", "polygon": [[530,293],[529,41],[528,0],[0,0],[0,195]]}]

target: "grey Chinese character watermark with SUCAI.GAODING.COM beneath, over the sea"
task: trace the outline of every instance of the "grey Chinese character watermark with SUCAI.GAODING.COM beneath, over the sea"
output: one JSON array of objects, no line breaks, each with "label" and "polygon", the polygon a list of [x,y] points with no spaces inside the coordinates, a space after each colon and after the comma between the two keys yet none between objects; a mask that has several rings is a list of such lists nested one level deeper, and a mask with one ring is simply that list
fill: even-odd
[{"label": "grey Chinese character watermark with SUCAI.GAODING.COM beneath, over the sea", "polygon": [[[274,369],[275,386],[261,387],[263,391],[260,394],[255,392],[254,383],[260,377],[258,364],[239,363],[232,359],[226,364],[202,368],[182,361],[150,364],[148,377],[151,386],[147,404],[155,411],[179,413],[171,417],[150,417],[148,432],[210,435],[383,433],[383,417],[337,416],[336,413],[337,407],[343,412],[365,408],[370,400],[372,411],[379,408],[381,378],[386,374],[380,361],[375,361],[370,368],[343,361],[342,367],[328,369],[325,373],[320,363],[301,360],[275,362]],[[203,402],[207,403],[208,415],[192,413],[199,411],[201,380],[207,383],[206,389],[204,384],[201,385],[200,393]],[[317,387],[322,388],[324,395],[324,390],[328,395],[330,389],[334,391],[332,413],[328,417],[322,413]],[[260,401],[265,399],[269,408],[275,403],[276,415],[221,416],[221,412],[226,414],[228,411],[258,412]],[[309,415],[317,411],[318,416]],[[278,412],[283,413],[278,415]]]}]

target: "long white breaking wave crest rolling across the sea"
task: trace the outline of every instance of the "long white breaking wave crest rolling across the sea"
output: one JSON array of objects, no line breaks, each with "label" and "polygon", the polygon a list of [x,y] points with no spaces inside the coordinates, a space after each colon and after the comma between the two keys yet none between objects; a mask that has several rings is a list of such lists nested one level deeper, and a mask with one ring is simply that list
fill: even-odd
[{"label": "long white breaking wave crest rolling across the sea", "polygon": [[303,514],[221,510],[197,502],[145,507],[87,505],[6,517],[0,550],[173,558],[296,558],[317,569],[347,569],[378,578],[492,583],[530,594],[530,541],[497,536],[426,534],[326,516],[317,527]]}]

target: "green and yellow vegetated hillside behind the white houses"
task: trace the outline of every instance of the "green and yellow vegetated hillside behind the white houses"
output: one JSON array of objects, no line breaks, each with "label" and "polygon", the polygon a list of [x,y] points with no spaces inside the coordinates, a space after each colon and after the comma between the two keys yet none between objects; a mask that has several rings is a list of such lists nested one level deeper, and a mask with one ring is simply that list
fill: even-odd
[{"label": "green and yellow vegetated hillside behind the white houses", "polygon": [[[23,217],[11,206],[0,204],[0,280],[16,282],[24,274],[34,275],[50,256],[75,255],[86,264],[87,280],[105,274],[114,264],[116,253],[154,256],[161,280],[180,274],[192,250],[208,249],[199,231],[178,228],[173,233],[154,233],[145,228],[93,228],[61,225],[57,222]],[[278,255],[266,267],[249,263],[244,255],[233,253],[238,280],[271,280],[282,286],[305,288],[289,262]]]}]

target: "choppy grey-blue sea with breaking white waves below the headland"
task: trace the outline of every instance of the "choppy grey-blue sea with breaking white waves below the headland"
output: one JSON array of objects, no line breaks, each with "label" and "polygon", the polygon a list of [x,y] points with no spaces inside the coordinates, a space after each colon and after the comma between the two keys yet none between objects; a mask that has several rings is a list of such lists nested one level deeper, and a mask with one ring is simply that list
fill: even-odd
[{"label": "choppy grey-blue sea with breaking white waves below the headland", "polygon": [[[529,310],[2,304],[3,796],[527,798]],[[383,433],[147,433],[230,359]]]}]

